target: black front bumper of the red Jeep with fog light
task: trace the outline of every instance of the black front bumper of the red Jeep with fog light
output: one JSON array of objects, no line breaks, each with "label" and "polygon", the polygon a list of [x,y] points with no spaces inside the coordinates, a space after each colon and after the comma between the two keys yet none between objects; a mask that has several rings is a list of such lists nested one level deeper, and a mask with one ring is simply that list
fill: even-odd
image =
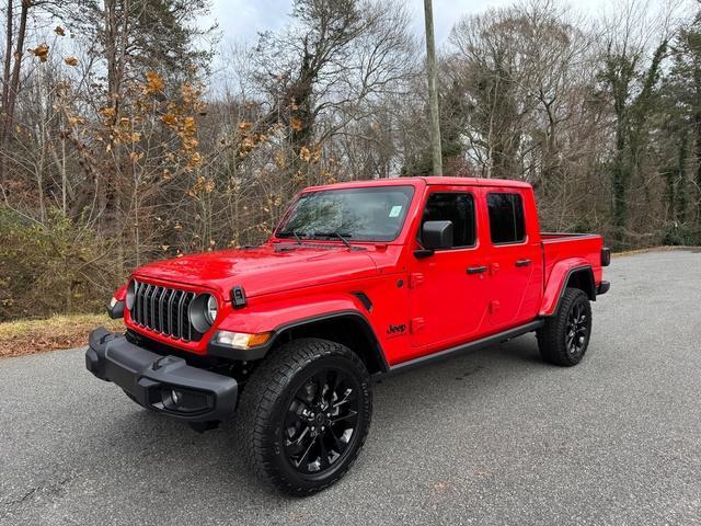
[{"label": "black front bumper of the red Jeep with fog light", "polygon": [[152,353],[104,328],[90,333],[85,367],[119,386],[140,405],[175,419],[229,420],[235,410],[239,385],[233,378]]}]

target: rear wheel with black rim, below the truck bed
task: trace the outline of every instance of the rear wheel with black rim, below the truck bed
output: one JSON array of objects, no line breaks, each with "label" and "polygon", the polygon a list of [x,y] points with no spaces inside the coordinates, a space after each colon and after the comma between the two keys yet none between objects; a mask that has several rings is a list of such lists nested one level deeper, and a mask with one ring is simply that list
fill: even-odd
[{"label": "rear wheel with black rim, below the truck bed", "polygon": [[572,367],[582,362],[591,335],[591,306],[584,290],[565,289],[558,312],[538,332],[538,347],[545,362]]}]

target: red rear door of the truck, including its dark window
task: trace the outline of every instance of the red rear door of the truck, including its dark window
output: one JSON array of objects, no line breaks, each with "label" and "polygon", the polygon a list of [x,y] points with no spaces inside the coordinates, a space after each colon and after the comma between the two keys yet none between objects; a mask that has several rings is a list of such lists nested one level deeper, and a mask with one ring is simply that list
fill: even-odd
[{"label": "red rear door of the truck, including its dark window", "polygon": [[494,330],[519,325],[538,315],[542,252],[532,194],[514,187],[484,187],[489,222],[489,320]]}]

